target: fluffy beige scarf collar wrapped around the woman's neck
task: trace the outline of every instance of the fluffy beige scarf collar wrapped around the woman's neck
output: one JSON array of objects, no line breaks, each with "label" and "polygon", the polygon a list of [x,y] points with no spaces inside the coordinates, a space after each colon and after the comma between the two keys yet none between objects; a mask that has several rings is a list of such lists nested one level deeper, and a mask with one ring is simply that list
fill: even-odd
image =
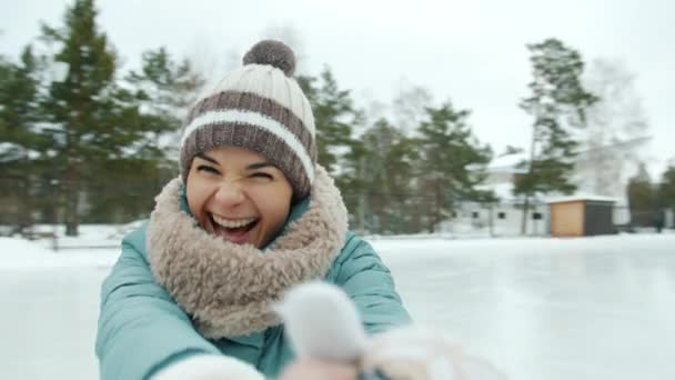
[{"label": "fluffy beige scarf collar wrapped around the woman's neck", "polygon": [[271,304],[289,287],[325,276],[344,244],[346,209],[320,166],[308,210],[264,252],[199,228],[180,208],[181,187],[177,178],[155,199],[148,257],[158,282],[208,338],[233,338],[279,324]]}]

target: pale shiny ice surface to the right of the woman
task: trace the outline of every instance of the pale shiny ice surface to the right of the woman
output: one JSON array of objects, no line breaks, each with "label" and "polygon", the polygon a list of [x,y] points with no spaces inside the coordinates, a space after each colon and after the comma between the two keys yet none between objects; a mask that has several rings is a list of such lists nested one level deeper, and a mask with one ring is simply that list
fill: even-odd
[{"label": "pale shiny ice surface to the right of the woman", "polygon": [[675,237],[375,244],[415,319],[512,379],[675,379]]}]

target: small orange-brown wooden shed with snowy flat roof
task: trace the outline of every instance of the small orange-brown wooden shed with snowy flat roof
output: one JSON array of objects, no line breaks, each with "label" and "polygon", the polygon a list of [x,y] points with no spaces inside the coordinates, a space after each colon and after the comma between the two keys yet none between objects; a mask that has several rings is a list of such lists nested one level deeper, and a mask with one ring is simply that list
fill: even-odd
[{"label": "small orange-brown wooden shed with snowy flat roof", "polygon": [[613,198],[566,197],[548,200],[551,236],[588,237],[614,233]]}]

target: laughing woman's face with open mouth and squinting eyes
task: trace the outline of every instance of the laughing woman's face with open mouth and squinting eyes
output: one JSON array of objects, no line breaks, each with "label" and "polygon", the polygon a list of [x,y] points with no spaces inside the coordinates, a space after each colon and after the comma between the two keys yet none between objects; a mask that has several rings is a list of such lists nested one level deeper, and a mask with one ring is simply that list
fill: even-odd
[{"label": "laughing woman's face with open mouth and squinting eyes", "polygon": [[238,244],[270,242],[289,216],[292,194],[281,170],[243,148],[200,153],[188,173],[188,206],[200,226]]}]

